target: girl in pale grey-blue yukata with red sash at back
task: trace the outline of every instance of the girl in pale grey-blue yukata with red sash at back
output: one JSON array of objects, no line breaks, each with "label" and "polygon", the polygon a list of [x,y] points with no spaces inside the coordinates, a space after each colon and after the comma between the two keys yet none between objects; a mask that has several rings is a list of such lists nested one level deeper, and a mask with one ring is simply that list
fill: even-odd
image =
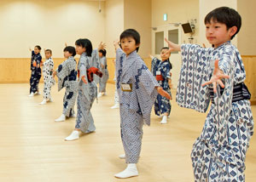
[{"label": "girl in pale grey-blue yukata with red sash at back", "polygon": [[[97,96],[97,86],[93,81],[93,75],[102,77],[102,72],[96,68],[99,61],[98,50],[92,50],[92,45],[88,39],[76,41],[76,52],[81,55],[79,59],[79,94],[78,94],[78,114],[75,129],[65,140],[71,141],[79,139],[79,131],[90,133],[95,131],[93,117],[90,109]],[[99,49],[104,48],[105,44],[100,43]]]}]

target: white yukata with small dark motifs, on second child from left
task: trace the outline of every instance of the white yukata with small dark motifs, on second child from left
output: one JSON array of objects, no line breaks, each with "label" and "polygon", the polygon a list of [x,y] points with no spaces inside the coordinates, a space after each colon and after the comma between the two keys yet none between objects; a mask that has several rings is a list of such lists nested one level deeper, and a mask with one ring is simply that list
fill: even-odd
[{"label": "white yukata with small dark motifs, on second child from left", "polygon": [[50,99],[50,89],[55,84],[55,79],[52,77],[54,62],[51,58],[44,61],[43,76],[44,76],[44,100]]}]

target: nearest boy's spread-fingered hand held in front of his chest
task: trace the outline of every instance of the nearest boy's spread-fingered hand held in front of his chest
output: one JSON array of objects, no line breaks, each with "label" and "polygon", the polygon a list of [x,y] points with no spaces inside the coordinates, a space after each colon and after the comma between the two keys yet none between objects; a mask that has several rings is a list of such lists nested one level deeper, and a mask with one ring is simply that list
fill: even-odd
[{"label": "nearest boy's spread-fingered hand held in front of his chest", "polygon": [[206,85],[212,84],[213,86],[213,92],[217,92],[217,84],[220,85],[220,87],[224,88],[224,83],[221,81],[222,78],[230,78],[228,75],[224,75],[223,71],[221,71],[218,67],[218,60],[215,60],[214,62],[214,71],[212,74],[212,77],[209,82],[203,83],[201,86],[204,87]]}]

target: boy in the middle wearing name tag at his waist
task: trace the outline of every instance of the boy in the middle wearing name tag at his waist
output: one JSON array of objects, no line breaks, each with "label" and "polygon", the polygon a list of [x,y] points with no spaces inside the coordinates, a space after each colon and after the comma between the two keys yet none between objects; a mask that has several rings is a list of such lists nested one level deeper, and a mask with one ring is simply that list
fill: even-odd
[{"label": "boy in the middle wearing name tag at his waist", "polygon": [[[157,93],[171,99],[171,96],[160,88],[159,83],[148,70],[144,61],[137,54],[140,46],[140,35],[134,29],[128,29],[120,35],[116,48],[116,77],[119,94],[121,117],[121,139],[125,149],[127,168],[114,176],[129,178],[137,176],[138,157],[141,152],[143,123],[150,124],[152,105]],[[120,156],[119,156],[120,157]]]}]

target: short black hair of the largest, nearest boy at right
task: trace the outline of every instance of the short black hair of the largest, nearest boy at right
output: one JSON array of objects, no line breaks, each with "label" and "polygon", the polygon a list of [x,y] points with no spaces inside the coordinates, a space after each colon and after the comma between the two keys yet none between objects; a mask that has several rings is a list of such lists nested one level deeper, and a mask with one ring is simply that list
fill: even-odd
[{"label": "short black hair of the largest, nearest boy at right", "polygon": [[235,9],[230,9],[229,7],[219,7],[218,9],[213,9],[205,18],[205,24],[210,23],[211,20],[223,23],[227,26],[229,30],[232,26],[236,26],[237,31],[231,37],[236,36],[241,28],[241,16]]}]

